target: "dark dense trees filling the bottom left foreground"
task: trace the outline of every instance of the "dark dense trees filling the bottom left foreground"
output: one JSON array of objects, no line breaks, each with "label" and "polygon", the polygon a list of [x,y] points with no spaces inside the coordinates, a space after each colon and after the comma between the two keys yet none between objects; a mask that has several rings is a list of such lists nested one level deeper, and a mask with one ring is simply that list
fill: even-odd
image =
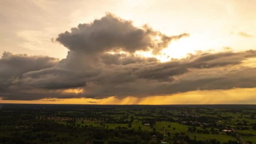
[{"label": "dark dense trees filling the bottom left foreground", "polygon": [[46,120],[30,120],[29,125],[19,128],[15,125],[1,125],[0,129],[1,144],[148,144],[152,135],[156,135],[158,140],[163,137],[157,131],[76,127]]}]

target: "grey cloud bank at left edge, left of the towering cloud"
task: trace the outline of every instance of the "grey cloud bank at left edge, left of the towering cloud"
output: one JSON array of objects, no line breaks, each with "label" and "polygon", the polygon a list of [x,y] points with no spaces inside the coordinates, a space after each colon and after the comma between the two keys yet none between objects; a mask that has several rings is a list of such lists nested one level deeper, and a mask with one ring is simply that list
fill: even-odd
[{"label": "grey cloud bank at left edge, left of the towering cloud", "polygon": [[13,55],[4,52],[0,59],[0,91],[7,89],[22,74],[54,67],[58,61],[48,56]]}]

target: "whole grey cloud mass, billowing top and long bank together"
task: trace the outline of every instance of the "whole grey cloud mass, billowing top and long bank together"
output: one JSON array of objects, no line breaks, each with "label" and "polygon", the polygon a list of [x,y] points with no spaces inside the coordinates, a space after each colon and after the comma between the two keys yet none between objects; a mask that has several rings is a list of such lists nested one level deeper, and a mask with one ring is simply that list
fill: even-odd
[{"label": "whole grey cloud mass, billowing top and long bank together", "polygon": [[70,50],[61,61],[4,52],[0,97],[101,99],[256,87],[256,68],[243,65],[256,58],[256,50],[198,52],[164,63],[135,53],[151,51],[155,55],[172,40],[187,36],[166,36],[147,25],[138,28],[108,13],[59,34],[55,40]]}]

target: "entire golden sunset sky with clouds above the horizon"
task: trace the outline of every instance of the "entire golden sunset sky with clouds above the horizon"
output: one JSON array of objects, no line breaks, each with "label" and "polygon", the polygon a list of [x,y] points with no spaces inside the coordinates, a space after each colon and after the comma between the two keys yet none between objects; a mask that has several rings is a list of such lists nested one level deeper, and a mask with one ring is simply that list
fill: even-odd
[{"label": "entire golden sunset sky with clouds above the horizon", "polygon": [[255,7],[0,1],[0,103],[256,104]]}]

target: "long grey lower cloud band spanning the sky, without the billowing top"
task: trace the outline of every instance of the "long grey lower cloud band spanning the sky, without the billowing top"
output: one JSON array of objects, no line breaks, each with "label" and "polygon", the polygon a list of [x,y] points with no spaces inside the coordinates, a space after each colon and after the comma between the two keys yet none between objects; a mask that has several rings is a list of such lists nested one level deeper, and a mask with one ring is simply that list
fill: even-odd
[{"label": "long grey lower cloud band spanning the sky, without the billowing top", "polygon": [[[250,50],[202,53],[165,63],[146,59],[125,65],[100,61],[91,70],[64,69],[63,65],[59,68],[58,63],[51,68],[25,72],[21,77],[5,80],[9,83],[3,85],[0,94],[3,99],[34,100],[49,97],[144,97],[195,90],[254,88],[256,68],[236,67],[245,59],[254,57],[256,51]],[[83,62],[77,65],[83,65]],[[59,91],[70,88],[82,88],[85,92],[65,94]]]}]

